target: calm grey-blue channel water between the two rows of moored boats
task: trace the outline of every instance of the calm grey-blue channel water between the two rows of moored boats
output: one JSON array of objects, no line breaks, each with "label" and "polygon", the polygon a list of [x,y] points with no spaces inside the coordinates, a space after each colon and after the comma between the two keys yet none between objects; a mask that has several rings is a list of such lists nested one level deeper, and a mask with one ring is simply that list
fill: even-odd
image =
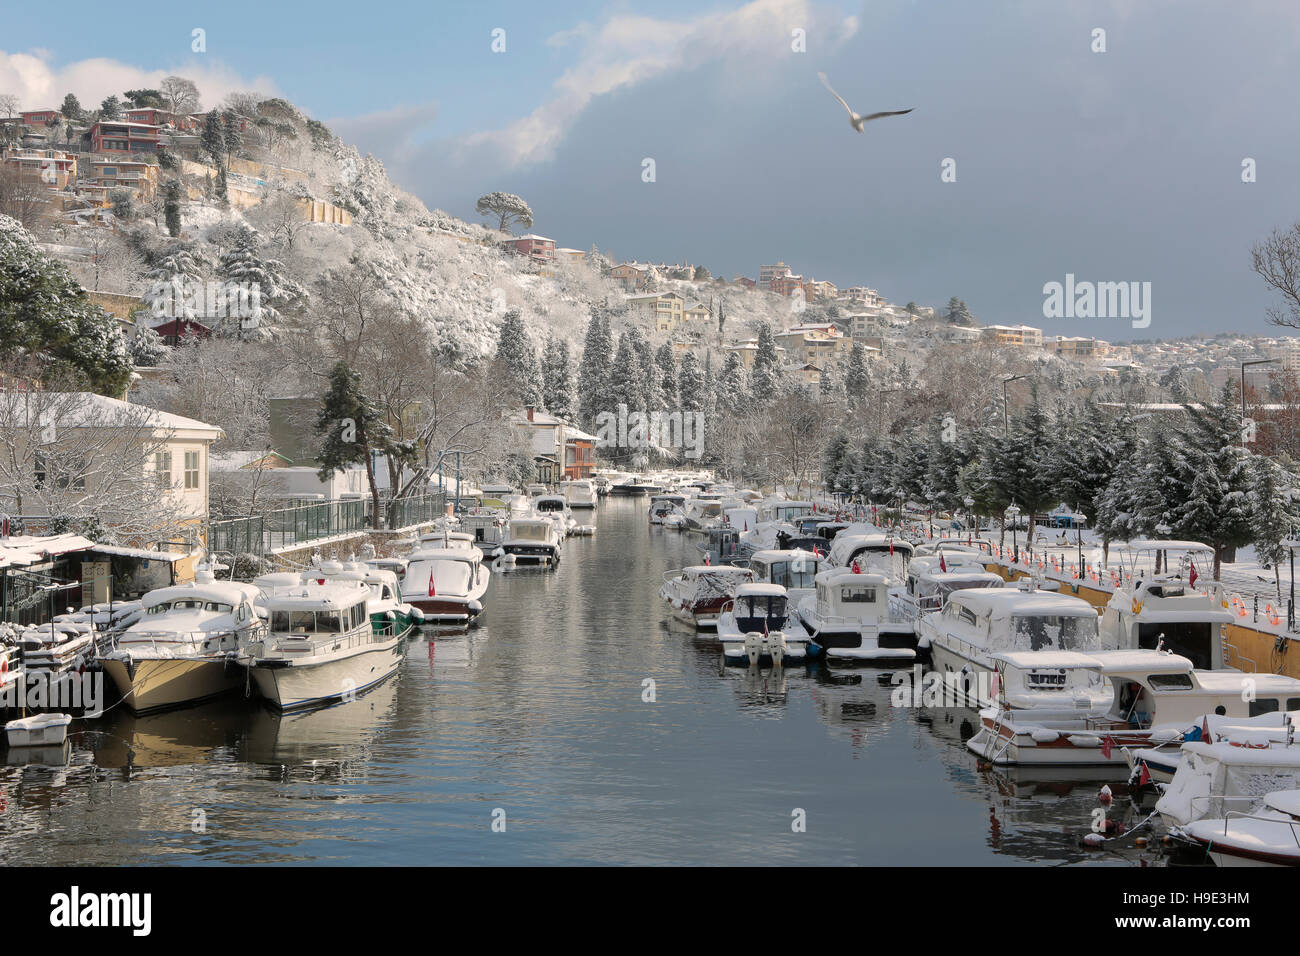
[{"label": "calm grey-blue channel water between the two rows of moored boats", "polygon": [[412,641],[398,678],[352,704],[75,723],[68,766],[0,767],[3,862],[1143,860],[1078,845],[1122,771],[980,771],[961,744],[972,715],[894,710],[881,671],[724,672],[716,645],[668,623],[662,575],[697,554],[645,507],[607,499],[556,572],[497,575],[482,627]]}]

